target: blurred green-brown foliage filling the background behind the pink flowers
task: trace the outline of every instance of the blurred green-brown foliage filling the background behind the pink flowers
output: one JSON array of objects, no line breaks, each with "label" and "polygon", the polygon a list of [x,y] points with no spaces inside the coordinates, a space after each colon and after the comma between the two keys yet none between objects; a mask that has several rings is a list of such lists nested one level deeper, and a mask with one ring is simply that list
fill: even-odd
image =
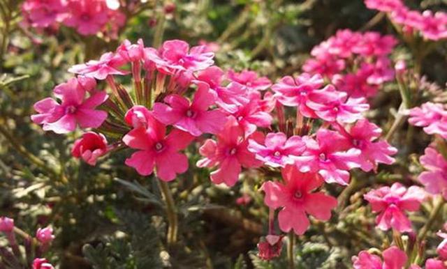
[{"label": "blurred green-brown foliage filling the background behind the pink flowers", "polygon": [[[189,171],[170,183],[180,240],[168,249],[161,194],[154,178],[139,176],[124,165],[130,151],[89,167],[70,154],[79,133],[57,135],[31,123],[34,102],[71,77],[70,66],[115,50],[124,39],[142,38],[151,45],[154,33],[164,27],[164,40],[218,43],[216,61],[223,69],[249,68],[274,81],[299,73],[312,47],[338,29],[395,33],[386,18],[372,20],[376,13],[361,0],[149,0],[128,18],[119,40],[81,37],[66,28],[56,33],[24,31],[19,26],[20,1],[0,3],[5,10],[0,21],[0,215],[13,216],[17,226],[30,233],[52,224],[57,239],[47,259],[62,269],[242,269],[286,264],[285,254],[271,263],[256,256],[256,243],[267,232],[268,210],[258,191],[263,178],[249,171],[231,189],[211,184],[207,170],[195,166],[200,143],[189,148]],[[172,3],[175,10],[166,13],[166,5]],[[406,3],[433,10],[447,6],[445,0]],[[403,43],[395,54],[411,60]],[[440,89],[447,82],[446,56],[444,43],[423,59],[427,82],[436,82]],[[371,103],[369,116],[386,130],[400,103],[397,85],[386,85]],[[417,139],[406,143],[410,132]],[[429,141],[423,132],[405,125],[392,141],[400,149],[396,164],[381,167],[379,174],[354,172],[357,184],[343,192],[331,185],[329,191],[340,194],[339,210],[330,222],[312,220],[312,228],[298,239],[297,268],[349,268],[351,256],[361,249],[390,242],[392,238],[374,229],[362,194],[367,187],[394,180],[412,183],[421,170],[416,155]],[[237,204],[242,195],[251,201]],[[423,225],[430,206],[413,216],[416,225]],[[433,252],[436,245],[429,242],[427,249]]]}]

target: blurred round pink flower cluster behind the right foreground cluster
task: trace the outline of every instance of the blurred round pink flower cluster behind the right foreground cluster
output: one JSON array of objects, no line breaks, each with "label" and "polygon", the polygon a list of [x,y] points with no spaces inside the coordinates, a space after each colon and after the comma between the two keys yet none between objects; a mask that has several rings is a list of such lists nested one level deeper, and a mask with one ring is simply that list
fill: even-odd
[{"label": "blurred round pink flower cluster behind the right foreground cluster", "polygon": [[397,40],[377,32],[339,30],[312,49],[302,69],[321,74],[352,98],[369,98],[394,79],[389,55]]}]

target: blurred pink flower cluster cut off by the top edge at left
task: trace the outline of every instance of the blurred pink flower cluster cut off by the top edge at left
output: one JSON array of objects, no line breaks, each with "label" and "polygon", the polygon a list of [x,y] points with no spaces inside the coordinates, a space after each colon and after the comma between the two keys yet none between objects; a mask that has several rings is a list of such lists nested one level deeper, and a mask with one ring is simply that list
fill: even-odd
[{"label": "blurred pink flower cluster cut off by the top edge at left", "polygon": [[24,26],[57,29],[72,27],[82,36],[106,33],[117,38],[126,16],[119,11],[118,0],[27,0],[22,4]]}]

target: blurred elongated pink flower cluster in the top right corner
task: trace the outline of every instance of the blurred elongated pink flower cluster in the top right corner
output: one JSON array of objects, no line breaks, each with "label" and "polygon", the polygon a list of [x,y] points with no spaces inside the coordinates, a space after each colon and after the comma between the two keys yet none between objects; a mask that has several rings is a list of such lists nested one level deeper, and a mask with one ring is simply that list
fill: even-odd
[{"label": "blurred elongated pink flower cluster in the top right corner", "polygon": [[365,0],[367,8],[387,13],[390,20],[402,27],[402,32],[408,35],[419,33],[427,40],[447,38],[447,13],[433,13],[425,10],[411,10],[402,0]]}]

